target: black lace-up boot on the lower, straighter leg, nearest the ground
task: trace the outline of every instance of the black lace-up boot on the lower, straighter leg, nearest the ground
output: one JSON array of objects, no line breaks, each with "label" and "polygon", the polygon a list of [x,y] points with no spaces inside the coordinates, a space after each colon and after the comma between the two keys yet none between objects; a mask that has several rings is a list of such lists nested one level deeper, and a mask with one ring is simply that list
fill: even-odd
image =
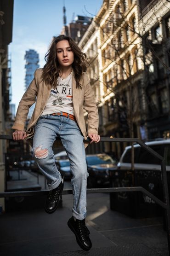
[{"label": "black lace-up boot on the lower, straighter leg, nearest the ground", "polygon": [[83,250],[90,250],[91,249],[91,239],[89,238],[90,231],[85,226],[85,219],[80,221],[74,221],[74,217],[72,216],[68,220],[68,227],[73,231],[75,234],[77,243]]}]

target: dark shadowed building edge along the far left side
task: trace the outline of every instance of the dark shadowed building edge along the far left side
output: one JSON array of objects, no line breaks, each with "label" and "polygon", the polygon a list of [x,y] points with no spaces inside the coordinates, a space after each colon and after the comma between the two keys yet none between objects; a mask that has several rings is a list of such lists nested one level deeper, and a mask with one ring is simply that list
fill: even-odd
[{"label": "dark shadowed building edge along the far left side", "polygon": [[[6,134],[9,118],[11,75],[8,45],[12,41],[13,0],[0,1],[0,134]],[[5,192],[5,153],[7,141],[0,140],[0,191]],[[0,198],[5,210],[5,200]]]}]

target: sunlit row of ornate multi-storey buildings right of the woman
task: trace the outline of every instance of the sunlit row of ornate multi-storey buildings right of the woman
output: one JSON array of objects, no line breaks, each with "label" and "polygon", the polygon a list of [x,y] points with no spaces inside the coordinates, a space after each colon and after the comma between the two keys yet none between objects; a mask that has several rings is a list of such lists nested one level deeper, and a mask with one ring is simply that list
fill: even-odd
[{"label": "sunlit row of ornate multi-storey buildings right of the woman", "polygon": [[[97,42],[100,134],[170,137],[170,2],[103,0],[92,23],[79,47],[91,62]],[[93,86],[92,62],[90,70]],[[119,158],[126,145],[106,143],[104,151]]]}]

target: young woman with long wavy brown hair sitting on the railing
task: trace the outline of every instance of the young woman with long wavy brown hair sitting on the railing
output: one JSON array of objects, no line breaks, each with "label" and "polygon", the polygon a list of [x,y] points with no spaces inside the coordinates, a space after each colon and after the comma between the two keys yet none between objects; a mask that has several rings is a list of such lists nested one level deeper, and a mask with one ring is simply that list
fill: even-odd
[{"label": "young woman with long wavy brown hair sitting on the railing", "polygon": [[[33,135],[33,156],[45,175],[50,192],[45,211],[53,213],[63,190],[63,177],[57,170],[52,145],[57,137],[68,154],[73,175],[74,206],[68,227],[74,232],[83,250],[91,249],[89,230],[85,226],[87,166],[84,139],[99,142],[98,111],[86,75],[85,53],[69,36],[53,39],[45,55],[46,64],[37,69],[34,79],[21,99],[13,125],[14,140],[28,140]],[[29,107],[36,101],[28,128],[24,131]],[[84,109],[88,112],[86,131]],[[87,143],[86,143],[87,144]]]}]

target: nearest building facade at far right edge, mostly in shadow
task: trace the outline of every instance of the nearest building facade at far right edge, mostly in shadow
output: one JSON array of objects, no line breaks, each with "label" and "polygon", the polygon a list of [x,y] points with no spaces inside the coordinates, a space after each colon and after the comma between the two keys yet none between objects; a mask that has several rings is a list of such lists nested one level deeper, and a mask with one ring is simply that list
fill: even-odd
[{"label": "nearest building facade at far right edge, mostly in shadow", "polygon": [[170,2],[139,3],[148,138],[170,138]]}]

